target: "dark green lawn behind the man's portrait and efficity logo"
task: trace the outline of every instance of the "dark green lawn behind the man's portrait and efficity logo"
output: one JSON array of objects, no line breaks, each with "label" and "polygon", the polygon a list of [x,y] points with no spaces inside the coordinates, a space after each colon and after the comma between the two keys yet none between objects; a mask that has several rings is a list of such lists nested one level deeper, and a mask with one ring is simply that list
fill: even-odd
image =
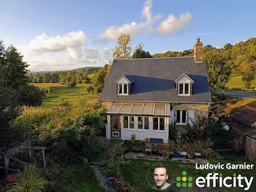
[{"label": "dark green lawn behind the man's portrait and efficity logo", "polygon": [[[226,164],[227,161],[218,161],[220,163]],[[214,164],[217,164],[218,162],[214,162]],[[167,166],[167,169],[169,171],[169,177],[170,181],[173,180],[173,184],[170,187],[170,191],[187,191],[187,188],[178,188],[176,187],[176,177],[181,177],[183,171],[187,171],[187,177],[191,176],[193,177],[193,187],[196,189],[200,189],[195,185],[195,178],[203,176],[205,177],[209,172],[221,172],[223,174],[223,177],[226,176],[233,176],[234,173],[236,174],[242,174],[245,177],[254,177],[256,175],[256,169],[252,170],[197,170],[195,169],[195,164],[192,163],[181,163],[177,161],[146,161],[146,160],[130,160],[130,163],[127,165],[124,165],[124,168],[122,169],[122,174],[124,177],[124,180],[127,181],[132,185],[133,188],[135,188],[134,191],[155,191],[152,189],[147,182],[146,174],[148,172],[148,169],[152,166],[154,167],[154,164],[165,164]],[[231,162],[228,162],[231,163]],[[148,174],[148,181],[149,183],[154,184],[153,180],[153,171],[154,169],[149,169]],[[207,191],[244,191],[243,188],[201,188],[203,190]],[[189,191],[189,190],[188,190]],[[256,191],[256,181],[254,180],[252,182],[251,188],[249,191]]]}]

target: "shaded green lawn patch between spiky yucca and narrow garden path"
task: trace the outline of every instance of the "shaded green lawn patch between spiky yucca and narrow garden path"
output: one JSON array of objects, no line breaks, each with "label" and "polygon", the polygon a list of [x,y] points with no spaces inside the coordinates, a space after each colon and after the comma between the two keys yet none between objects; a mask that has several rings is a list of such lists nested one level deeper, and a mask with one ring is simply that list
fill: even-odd
[{"label": "shaded green lawn patch between spiky yucca and narrow garden path", "polygon": [[60,167],[53,182],[59,191],[103,192],[89,164],[81,163]]}]

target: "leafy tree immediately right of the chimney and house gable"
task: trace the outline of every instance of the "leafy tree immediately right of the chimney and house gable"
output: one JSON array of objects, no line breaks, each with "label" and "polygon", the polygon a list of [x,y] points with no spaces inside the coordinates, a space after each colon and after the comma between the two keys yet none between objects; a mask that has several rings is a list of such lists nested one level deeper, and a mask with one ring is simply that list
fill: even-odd
[{"label": "leafy tree immediately right of the chimney and house gable", "polygon": [[205,51],[203,61],[206,64],[211,96],[214,99],[217,92],[224,93],[227,89],[225,85],[230,79],[231,69],[226,64],[221,50]]}]

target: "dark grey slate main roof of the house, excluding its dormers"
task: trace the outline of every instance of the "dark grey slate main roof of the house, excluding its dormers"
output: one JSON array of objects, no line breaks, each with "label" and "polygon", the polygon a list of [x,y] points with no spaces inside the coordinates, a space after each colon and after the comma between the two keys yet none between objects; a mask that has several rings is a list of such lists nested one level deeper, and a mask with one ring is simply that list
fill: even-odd
[{"label": "dark grey slate main roof of the house, excluding its dormers", "polygon": [[[192,96],[177,96],[174,80],[186,73],[192,80]],[[129,74],[135,82],[129,96],[118,96],[116,81]],[[194,57],[114,59],[99,101],[151,101],[208,103],[206,66]]]}]

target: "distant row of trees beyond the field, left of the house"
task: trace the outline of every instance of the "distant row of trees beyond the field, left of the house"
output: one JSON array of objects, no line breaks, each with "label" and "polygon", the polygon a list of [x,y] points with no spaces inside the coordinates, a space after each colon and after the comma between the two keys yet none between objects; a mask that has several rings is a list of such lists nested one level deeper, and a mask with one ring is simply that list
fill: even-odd
[{"label": "distant row of trees beyond the field, left of the house", "polygon": [[69,82],[75,83],[88,83],[90,79],[89,74],[99,71],[101,67],[91,67],[87,69],[74,69],[69,71],[56,71],[56,72],[33,72],[28,74],[29,82],[33,83],[48,83],[59,82],[68,84]]}]

